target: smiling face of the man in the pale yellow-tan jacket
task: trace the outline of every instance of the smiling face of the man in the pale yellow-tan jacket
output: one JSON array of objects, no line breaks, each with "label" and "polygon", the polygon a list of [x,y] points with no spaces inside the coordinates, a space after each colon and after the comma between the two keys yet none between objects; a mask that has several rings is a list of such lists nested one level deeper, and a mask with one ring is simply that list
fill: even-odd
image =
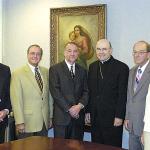
[{"label": "smiling face of the man in the pale yellow-tan jacket", "polygon": [[41,49],[36,46],[31,47],[27,54],[27,58],[29,64],[31,64],[32,66],[38,66],[42,58]]}]

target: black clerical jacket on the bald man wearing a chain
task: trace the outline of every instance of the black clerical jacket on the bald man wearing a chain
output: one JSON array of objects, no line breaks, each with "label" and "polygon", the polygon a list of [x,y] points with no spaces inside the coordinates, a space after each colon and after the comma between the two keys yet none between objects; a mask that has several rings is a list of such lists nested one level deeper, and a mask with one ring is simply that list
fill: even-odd
[{"label": "black clerical jacket on the bald man wearing a chain", "polygon": [[[102,71],[99,65],[101,65]],[[128,66],[113,57],[104,64],[95,61],[90,65],[88,111],[91,113],[93,125],[97,118],[104,127],[113,126],[115,117],[124,119],[128,73]],[[103,75],[103,79],[101,75]]]}]

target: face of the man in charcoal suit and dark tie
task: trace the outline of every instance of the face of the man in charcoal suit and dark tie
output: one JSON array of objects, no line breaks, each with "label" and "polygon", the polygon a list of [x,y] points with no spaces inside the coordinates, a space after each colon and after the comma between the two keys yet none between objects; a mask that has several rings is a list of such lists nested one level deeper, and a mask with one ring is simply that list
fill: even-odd
[{"label": "face of the man in charcoal suit and dark tie", "polygon": [[74,44],[68,44],[64,51],[64,56],[67,62],[73,64],[78,58],[78,48]]}]

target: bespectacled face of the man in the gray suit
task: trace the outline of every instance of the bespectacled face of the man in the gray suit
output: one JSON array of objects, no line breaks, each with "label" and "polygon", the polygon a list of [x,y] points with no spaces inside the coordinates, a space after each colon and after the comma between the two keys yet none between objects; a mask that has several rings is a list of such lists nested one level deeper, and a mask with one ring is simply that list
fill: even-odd
[{"label": "bespectacled face of the man in the gray suit", "polygon": [[143,66],[149,59],[149,52],[147,52],[146,44],[138,42],[133,47],[133,57],[135,64]]}]

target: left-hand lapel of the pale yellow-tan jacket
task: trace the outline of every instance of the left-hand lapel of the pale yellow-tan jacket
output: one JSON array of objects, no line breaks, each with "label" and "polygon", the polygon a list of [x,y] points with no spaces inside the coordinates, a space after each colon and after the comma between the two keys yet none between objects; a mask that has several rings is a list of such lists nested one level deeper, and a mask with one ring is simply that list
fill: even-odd
[{"label": "left-hand lapel of the pale yellow-tan jacket", "polygon": [[35,87],[35,89],[36,89],[40,94],[42,94],[41,91],[40,91],[40,88],[39,88],[39,86],[38,86],[38,84],[37,84],[37,82],[36,82],[36,79],[35,79],[35,77],[34,77],[34,74],[33,74],[33,72],[31,71],[31,69],[29,68],[29,66],[26,65],[25,68],[24,68],[24,70],[25,70],[26,76],[27,76],[28,79],[32,82],[32,84],[33,84],[33,86]]}]

